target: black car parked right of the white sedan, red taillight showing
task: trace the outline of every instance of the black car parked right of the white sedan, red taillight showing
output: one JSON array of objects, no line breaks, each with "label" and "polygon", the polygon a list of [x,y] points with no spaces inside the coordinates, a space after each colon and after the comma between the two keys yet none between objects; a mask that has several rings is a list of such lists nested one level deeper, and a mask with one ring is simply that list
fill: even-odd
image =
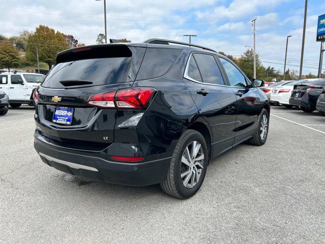
[{"label": "black car parked right of the white sedan, red taillight showing", "polygon": [[289,103],[299,106],[304,112],[311,113],[316,109],[316,103],[323,92],[323,87],[325,87],[325,79],[295,85]]}]

